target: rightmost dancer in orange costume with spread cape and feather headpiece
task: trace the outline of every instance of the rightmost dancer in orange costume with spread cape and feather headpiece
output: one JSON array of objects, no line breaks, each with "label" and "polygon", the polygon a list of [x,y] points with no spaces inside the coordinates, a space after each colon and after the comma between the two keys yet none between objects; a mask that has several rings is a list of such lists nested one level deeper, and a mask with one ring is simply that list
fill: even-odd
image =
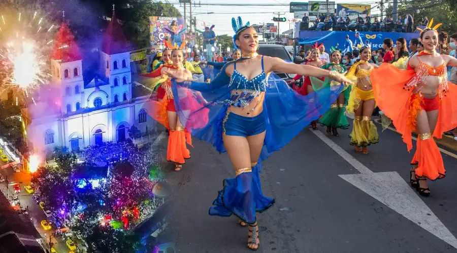
[{"label": "rightmost dancer in orange costume with spread cape and feather headpiece", "polygon": [[457,126],[454,102],[457,90],[447,81],[446,73],[446,65],[457,66],[457,59],[436,52],[436,28],[440,24],[431,28],[432,24],[433,19],[420,33],[424,50],[409,60],[407,70],[382,64],[371,75],[378,106],[393,120],[408,151],[412,148],[411,132],[418,134],[410,181],[426,197],[430,195],[427,179],[445,177],[443,158],[433,137],[441,138],[444,132]]}]

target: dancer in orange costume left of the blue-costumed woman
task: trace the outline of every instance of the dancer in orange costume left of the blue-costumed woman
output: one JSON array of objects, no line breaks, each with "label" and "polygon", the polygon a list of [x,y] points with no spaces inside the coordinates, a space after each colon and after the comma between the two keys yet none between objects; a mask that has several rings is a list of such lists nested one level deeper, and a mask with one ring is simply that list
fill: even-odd
[{"label": "dancer in orange costume left of the blue-costumed woman", "polygon": [[[183,127],[179,120],[179,116],[176,114],[173,93],[171,91],[171,81],[167,76],[167,72],[170,69],[174,69],[177,73],[181,74],[182,80],[192,80],[192,74],[189,70],[185,69],[183,65],[185,61],[185,54],[182,51],[184,45],[185,41],[180,48],[175,48],[168,44],[168,48],[171,49],[172,64],[166,63],[156,71],[144,75],[146,77],[154,78],[153,87],[155,87],[157,83],[161,83],[162,89],[166,91],[160,102],[150,101],[150,103],[146,103],[145,105],[148,106],[146,110],[151,112],[151,116],[170,131],[167,160],[175,163],[175,171],[180,171],[182,169],[182,164],[185,163],[185,159],[190,158],[190,151],[187,149],[186,143],[192,146],[190,133]],[[189,104],[187,105],[189,107],[191,106],[192,101],[187,99],[187,103]]]}]

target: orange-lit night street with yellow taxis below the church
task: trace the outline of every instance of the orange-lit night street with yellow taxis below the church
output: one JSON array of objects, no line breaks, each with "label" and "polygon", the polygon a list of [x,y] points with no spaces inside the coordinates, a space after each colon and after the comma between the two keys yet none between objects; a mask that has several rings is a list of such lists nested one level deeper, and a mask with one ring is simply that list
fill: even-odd
[{"label": "orange-lit night street with yellow taxis below the church", "polygon": [[[3,164],[0,164],[0,166]],[[49,240],[51,240],[54,243],[54,248],[57,250],[57,252],[68,252],[69,248],[65,244],[65,242],[62,240],[60,237],[53,237],[52,235],[53,230],[55,230],[55,227],[51,224],[52,229],[45,231],[43,227],[41,226],[40,222],[42,220],[46,220],[46,215],[44,214],[43,210],[38,206],[37,203],[32,199],[32,194],[27,193],[24,190],[25,185],[30,184],[30,174],[27,173],[15,173],[11,167],[5,168],[1,172],[4,177],[8,177],[9,181],[9,194],[15,194],[13,185],[16,183],[19,183],[20,188],[21,188],[21,193],[17,193],[15,195],[19,196],[19,201],[21,203],[21,206],[23,208],[28,206],[28,215],[22,215],[23,217],[27,217],[31,220],[31,222],[34,224],[34,226],[37,228],[37,231],[42,235],[43,238],[46,238],[46,243],[49,243]],[[5,194],[5,196],[8,197],[8,192],[6,190],[6,184],[5,182],[0,183],[2,186],[0,189],[2,189],[2,192]]]}]

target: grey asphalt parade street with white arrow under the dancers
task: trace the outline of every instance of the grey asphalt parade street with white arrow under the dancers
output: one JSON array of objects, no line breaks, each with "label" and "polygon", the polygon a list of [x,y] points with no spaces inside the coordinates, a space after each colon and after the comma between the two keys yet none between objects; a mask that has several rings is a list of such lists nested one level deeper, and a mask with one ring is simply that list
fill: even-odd
[{"label": "grey asphalt parade street with white arrow under the dancers", "polygon": [[[432,194],[425,198],[409,186],[415,150],[408,153],[398,133],[381,133],[377,124],[380,142],[362,154],[349,145],[351,127],[340,137],[322,126],[304,129],[264,161],[263,192],[276,203],[257,216],[258,251],[457,252],[455,151],[441,149],[447,177],[429,181]],[[228,155],[192,141],[182,171],[166,165],[174,186],[173,241],[180,252],[250,252],[248,229],[235,216],[208,215],[222,180],[235,176]]]}]

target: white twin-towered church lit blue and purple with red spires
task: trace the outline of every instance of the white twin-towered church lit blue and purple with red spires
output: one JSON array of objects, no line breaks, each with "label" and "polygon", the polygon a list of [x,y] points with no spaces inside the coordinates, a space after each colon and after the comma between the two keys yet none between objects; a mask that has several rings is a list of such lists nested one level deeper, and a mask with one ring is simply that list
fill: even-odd
[{"label": "white twin-towered church lit blue and purple with red spires", "polygon": [[59,146],[78,151],[134,134],[142,141],[153,131],[155,121],[143,108],[151,92],[132,80],[131,48],[114,16],[99,51],[99,75],[84,80],[82,54],[69,27],[61,25],[51,58],[52,85],[26,110],[27,138],[35,152]]}]

